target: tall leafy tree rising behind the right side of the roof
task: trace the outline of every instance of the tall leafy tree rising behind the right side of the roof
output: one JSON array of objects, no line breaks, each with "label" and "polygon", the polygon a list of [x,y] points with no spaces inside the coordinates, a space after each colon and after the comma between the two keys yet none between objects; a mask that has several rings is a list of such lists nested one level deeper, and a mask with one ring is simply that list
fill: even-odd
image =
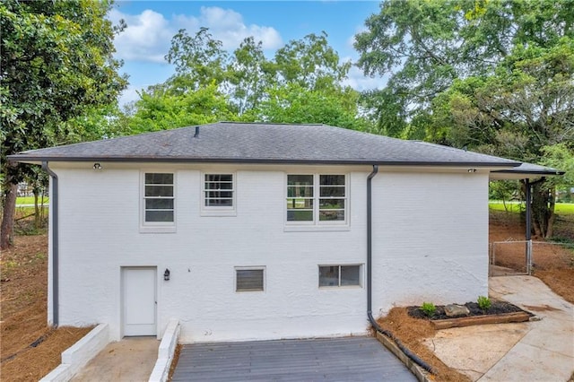
[{"label": "tall leafy tree rising behind the right side of the roof", "polygon": [[432,100],[455,80],[493,74],[519,45],[550,48],[571,38],[572,22],[571,0],[382,3],[354,44],[365,74],[387,76],[386,88],[370,97],[379,128],[395,136],[420,132]]}]

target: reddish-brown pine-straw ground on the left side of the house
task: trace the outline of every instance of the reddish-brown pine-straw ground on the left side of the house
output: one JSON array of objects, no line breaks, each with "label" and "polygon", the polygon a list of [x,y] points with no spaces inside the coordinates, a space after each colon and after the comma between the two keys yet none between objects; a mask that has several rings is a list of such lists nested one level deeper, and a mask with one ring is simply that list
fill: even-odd
[{"label": "reddish-brown pine-straw ground on the left side of the house", "polygon": [[39,380],[90,328],[47,324],[47,235],[16,236],[0,256],[0,270],[1,373],[11,381]]}]

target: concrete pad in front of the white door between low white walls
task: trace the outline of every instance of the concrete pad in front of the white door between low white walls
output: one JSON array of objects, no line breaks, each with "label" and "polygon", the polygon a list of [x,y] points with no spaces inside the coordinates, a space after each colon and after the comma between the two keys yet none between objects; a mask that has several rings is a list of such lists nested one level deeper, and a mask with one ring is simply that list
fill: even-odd
[{"label": "concrete pad in front of the white door between low white walls", "polygon": [[73,382],[141,382],[152,374],[160,341],[155,337],[126,337],[109,343],[76,374]]}]

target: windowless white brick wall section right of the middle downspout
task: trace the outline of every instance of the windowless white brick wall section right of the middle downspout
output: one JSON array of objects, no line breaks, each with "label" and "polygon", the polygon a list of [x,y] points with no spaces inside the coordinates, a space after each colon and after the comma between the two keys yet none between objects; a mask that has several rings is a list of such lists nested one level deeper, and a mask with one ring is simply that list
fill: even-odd
[{"label": "windowless white brick wall section right of the middle downspout", "polygon": [[373,179],[373,311],[488,293],[488,174]]}]

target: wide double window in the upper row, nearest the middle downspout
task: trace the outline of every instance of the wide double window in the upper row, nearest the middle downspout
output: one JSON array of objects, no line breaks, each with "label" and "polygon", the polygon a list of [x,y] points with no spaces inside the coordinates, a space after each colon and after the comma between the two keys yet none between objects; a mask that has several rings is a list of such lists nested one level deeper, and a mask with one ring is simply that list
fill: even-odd
[{"label": "wide double window in the upper row, nearest the middle downspout", "polygon": [[346,223],[346,178],[343,174],[288,174],[287,223]]}]

